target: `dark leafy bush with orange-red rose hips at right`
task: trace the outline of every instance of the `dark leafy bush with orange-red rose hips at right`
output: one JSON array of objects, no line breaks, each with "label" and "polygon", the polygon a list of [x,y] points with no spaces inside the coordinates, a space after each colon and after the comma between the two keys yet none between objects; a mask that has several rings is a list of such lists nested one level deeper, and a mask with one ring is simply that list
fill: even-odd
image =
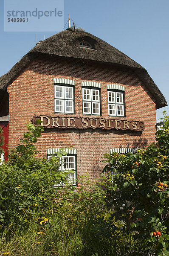
[{"label": "dark leafy bush with orange-red rose hips at right", "polygon": [[155,255],[169,256],[169,116],[165,112],[156,141],[135,153],[106,154],[104,171],[114,173],[107,193],[115,220],[123,221],[125,232],[137,234],[143,246],[154,247]]}]

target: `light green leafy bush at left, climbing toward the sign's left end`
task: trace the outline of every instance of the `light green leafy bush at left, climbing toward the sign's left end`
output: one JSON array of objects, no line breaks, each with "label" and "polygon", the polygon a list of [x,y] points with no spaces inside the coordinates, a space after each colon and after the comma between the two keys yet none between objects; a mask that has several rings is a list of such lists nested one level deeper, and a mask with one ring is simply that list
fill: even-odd
[{"label": "light green leafy bush at left, climbing toward the sign's left end", "polygon": [[[37,142],[43,127],[29,124],[21,144],[0,166],[0,222],[4,225],[28,224],[39,212],[39,217],[52,209],[56,189],[53,185],[66,174],[59,172],[59,158],[36,158]],[[62,154],[67,154],[62,151]]]}]

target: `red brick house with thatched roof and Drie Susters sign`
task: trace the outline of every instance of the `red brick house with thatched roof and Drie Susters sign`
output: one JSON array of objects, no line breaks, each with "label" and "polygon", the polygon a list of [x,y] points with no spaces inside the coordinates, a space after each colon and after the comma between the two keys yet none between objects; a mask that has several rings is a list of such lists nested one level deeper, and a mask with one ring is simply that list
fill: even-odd
[{"label": "red brick house with thatched roof and Drie Susters sign", "polygon": [[155,110],[167,105],[141,65],[80,28],[37,43],[0,78],[0,102],[9,148],[41,118],[39,156],[71,147],[62,168],[93,179],[104,153],[153,143]]}]

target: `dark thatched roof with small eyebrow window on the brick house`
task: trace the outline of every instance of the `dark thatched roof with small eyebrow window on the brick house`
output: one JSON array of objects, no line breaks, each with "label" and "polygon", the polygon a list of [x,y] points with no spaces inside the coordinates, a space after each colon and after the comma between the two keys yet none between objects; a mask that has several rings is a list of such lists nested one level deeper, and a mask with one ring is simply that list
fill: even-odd
[{"label": "dark thatched roof with small eyebrow window on the brick house", "polygon": [[[70,28],[56,35],[47,38],[45,41],[37,44],[28,52],[11,70],[0,77],[0,91],[6,90],[8,84],[39,54],[54,55],[65,58],[83,59],[97,63],[107,63],[120,67],[130,68],[138,74],[148,90],[152,93],[156,101],[156,108],[162,108],[167,105],[166,100],[158,89],[157,85],[151,79],[147,71],[137,62],[133,61],[124,53],[114,48],[105,41],[97,38],[83,29]],[[81,41],[87,41],[93,49],[82,49],[79,47]],[[2,93],[1,93],[2,94]]]}]

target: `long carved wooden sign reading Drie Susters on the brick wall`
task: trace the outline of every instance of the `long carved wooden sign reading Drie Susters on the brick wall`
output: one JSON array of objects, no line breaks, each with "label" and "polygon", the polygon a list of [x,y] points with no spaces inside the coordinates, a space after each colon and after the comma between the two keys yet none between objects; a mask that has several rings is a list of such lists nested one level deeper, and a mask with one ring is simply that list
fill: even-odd
[{"label": "long carved wooden sign reading Drie Susters on the brick wall", "polygon": [[90,116],[48,116],[48,115],[34,115],[32,122],[36,125],[36,119],[41,119],[42,126],[44,128],[100,128],[104,130],[120,129],[120,130],[132,130],[132,131],[144,131],[144,122],[142,121],[127,121],[121,119],[105,119],[105,118],[93,118]]}]

